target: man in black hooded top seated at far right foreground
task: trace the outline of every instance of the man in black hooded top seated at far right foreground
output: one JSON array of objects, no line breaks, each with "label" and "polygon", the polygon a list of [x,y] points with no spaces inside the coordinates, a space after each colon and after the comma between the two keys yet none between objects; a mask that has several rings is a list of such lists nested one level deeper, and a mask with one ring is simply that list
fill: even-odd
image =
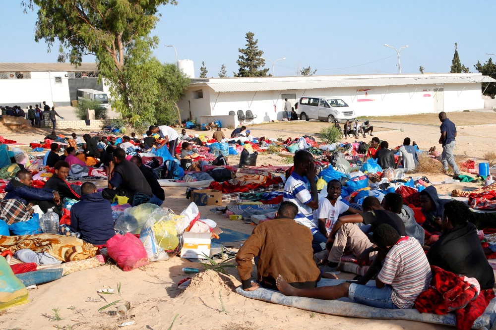
[{"label": "man in black hooded top seated at far right foreground", "polygon": [[427,252],[431,266],[445,271],[475,277],[481,290],[495,284],[493,268],[482,249],[481,240],[473,223],[467,222],[472,212],[460,201],[444,204],[442,235]]}]

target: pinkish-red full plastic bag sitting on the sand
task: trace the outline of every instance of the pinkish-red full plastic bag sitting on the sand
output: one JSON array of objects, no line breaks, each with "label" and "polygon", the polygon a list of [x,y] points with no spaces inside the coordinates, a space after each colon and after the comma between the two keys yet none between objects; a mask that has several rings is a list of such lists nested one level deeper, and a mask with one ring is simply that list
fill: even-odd
[{"label": "pinkish-red full plastic bag sitting on the sand", "polygon": [[124,272],[132,271],[150,263],[143,243],[129,232],[124,236],[116,234],[109,239],[107,241],[107,253]]}]

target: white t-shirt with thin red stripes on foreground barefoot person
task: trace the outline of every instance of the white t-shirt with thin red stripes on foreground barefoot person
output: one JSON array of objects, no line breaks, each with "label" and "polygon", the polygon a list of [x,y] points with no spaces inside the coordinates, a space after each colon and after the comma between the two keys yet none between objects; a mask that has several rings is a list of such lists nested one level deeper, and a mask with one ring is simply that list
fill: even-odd
[{"label": "white t-shirt with thin red stripes on foreground barefoot person", "polygon": [[391,300],[396,306],[412,308],[432,279],[431,266],[419,241],[408,236],[400,239],[387,253],[377,278],[391,285]]}]

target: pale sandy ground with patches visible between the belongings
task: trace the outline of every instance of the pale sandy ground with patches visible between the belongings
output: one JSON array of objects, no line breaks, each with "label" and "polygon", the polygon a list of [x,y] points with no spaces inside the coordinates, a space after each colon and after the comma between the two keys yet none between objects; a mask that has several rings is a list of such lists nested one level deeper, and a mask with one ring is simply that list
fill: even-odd
[{"label": "pale sandy ground with patches visible between the belongings", "polygon": [[[434,114],[435,117],[435,114]],[[314,132],[318,122],[298,123],[304,131]],[[480,161],[485,150],[490,147],[489,138],[492,137],[493,127],[458,125],[457,149],[458,154]],[[275,123],[250,127],[254,136],[267,137],[296,137],[302,134],[295,133],[300,129],[280,127],[276,125],[290,125],[293,123]],[[273,126],[275,128],[272,128]],[[294,125],[294,124],[293,124]],[[305,126],[304,126],[305,125]],[[403,138],[409,136],[422,148],[438,145],[439,132],[437,127],[414,124],[380,123],[377,126],[387,129],[377,132],[380,139],[390,142],[390,146],[399,145]],[[289,131],[289,132],[285,132]],[[33,139],[42,139],[49,133],[49,129],[35,129],[18,127],[10,130],[0,125],[0,135],[21,143],[28,144]],[[68,134],[71,132],[63,132]],[[78,132],[76,132],[78,133]],[[79,132],[83,133],[83,132]],[[199,133],[190,131],[188,133]],[[210,132],[211,134],[212,132]],[[230,130],[226,130],[226,135]],[[365,139],[364,139],[365,140]],[[366,140],[370,140],[368,136]],[[465,158],[468,158],[465,157]],[[229,162],[236,164],[239,157],[230,157]],[[262,154],[258,157],[257,165],[284,164],[283,159],[276,154]],[[418,174],[420,175],[420,174]],[[441,181],[446,176],[428,174],[431,181]],[[437,186],[440,195],[449,195],[453,189],[471,190],[477,187],[473,183],[457,183]],[[166,202],[164,207],[173,209],[177,214],[182,212],[190,203],[185,197],[186,188],[166,188]],[[230,204],[235,204],[231,201]],[[224,205],[228,205],[224,202]],[[239,220],[228,220],[209,211],[211,206],[199,207],[201,216],[212,219],[221,228],[230,228],[244,233],[251,233],[254,226],[244,224]],[[85,270],[62,277],[62,279],[39,285],[30,290],[30,302],[0,312],[0,329],[121,329],[119,324],[135,321],[132,326],[123,329],[129,330],[166,330],[169,329],[176,314],[178,319],[173,329],[454,329],[452,327],[437,326],[418,322],[398,320],[368,320],[347,318],[312,313],[295,308],[246,299],[234,292],[240,285],[236,269],[229,273],[234,277],[221,277],[216,273],[201,274],[194,279],[191,286],[182,292],[177,283],[188,275],[183,274],[183,267],[195,267],[203,270],[199,264],[193,264],[185,259],[175,257],[169,261],[156,262],[131,272],[123,272],[116,266],[105,265],[91,270]],[[256,278],[256,271],[252,273]],[[355,275],[342,273],[340,278],[353,278]],[[118,296],[100,295],[101,288],[112,287],[117,289],[117,283],[122,285],[122,296],[125,300],[135,303],[125,319],[111,315],[108,311],[115,311],[115,306],[105,312],[98,309],[106,304],[120,299]],[[222,302],[219,297],[222,297]],[[222,304],[224,312],[222,312]],[[117,306],[117,305],[116,305]],[[60,308],[60,321],[52,321],[55,316],[54,308]]]}]

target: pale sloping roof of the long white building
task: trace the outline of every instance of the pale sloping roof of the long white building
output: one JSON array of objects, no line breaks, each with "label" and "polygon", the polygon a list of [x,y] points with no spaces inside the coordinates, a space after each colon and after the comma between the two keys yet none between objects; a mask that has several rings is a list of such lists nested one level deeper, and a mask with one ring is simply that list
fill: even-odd
[{"label": "pale sloping roof of the long white building", "polygon": [[215,92],[252,92],[334,87],[442,85],[496,82],[481,73],[371,74],[297,77],[192,78],[192,85],[207,85]]}]

